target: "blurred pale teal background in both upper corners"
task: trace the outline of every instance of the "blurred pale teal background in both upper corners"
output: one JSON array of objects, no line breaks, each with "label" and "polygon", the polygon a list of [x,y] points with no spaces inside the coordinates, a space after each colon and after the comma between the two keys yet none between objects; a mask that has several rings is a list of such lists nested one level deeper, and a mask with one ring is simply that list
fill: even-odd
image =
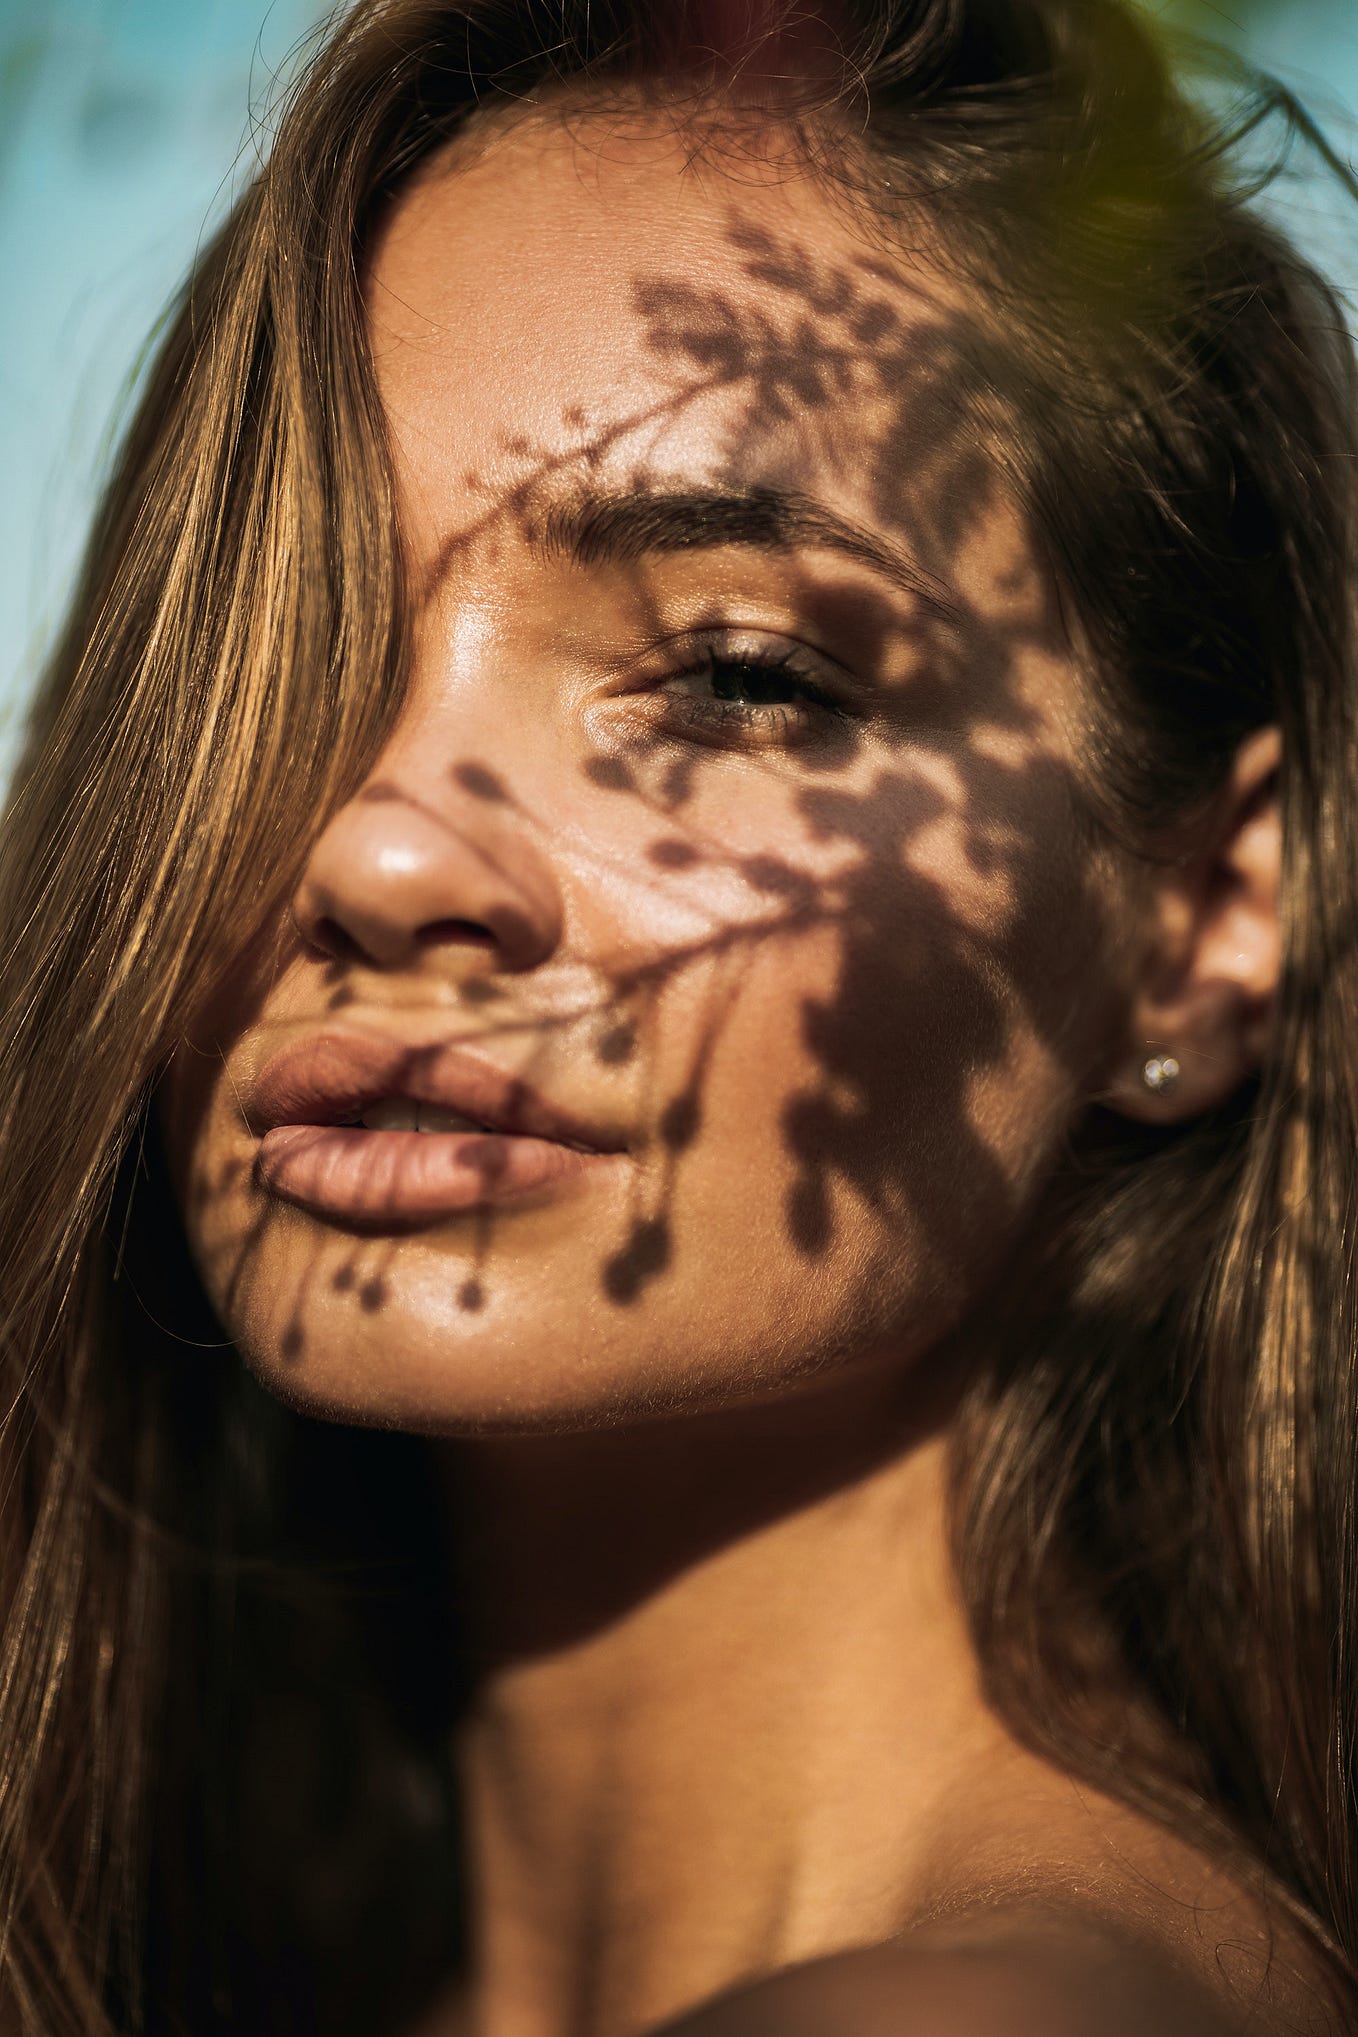
[{"label": "blurred pale teal background in both upper corners", "polygon": [[[1140,4],[1275,71],[1358,157],[1358,0]],[[147,338],[328,14],[0,0],[0,786]],[[1270,204],[1354,293],[1358,326],[1358,208],[1305,165]]]}]

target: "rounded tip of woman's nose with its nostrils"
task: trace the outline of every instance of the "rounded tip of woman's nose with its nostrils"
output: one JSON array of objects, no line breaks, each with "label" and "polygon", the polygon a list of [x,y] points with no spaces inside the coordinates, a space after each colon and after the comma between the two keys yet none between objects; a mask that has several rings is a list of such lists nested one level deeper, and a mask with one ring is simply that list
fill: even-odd
[{"label": "rounded tip of woman's nose with its nostrils", "polygon": [[322,831],[293,894],[297,931],[338,961],[413,968],[436,945],[533,970],[562,939],[562,892],[529,819],[480,766],[438,801],[369,782]]}]

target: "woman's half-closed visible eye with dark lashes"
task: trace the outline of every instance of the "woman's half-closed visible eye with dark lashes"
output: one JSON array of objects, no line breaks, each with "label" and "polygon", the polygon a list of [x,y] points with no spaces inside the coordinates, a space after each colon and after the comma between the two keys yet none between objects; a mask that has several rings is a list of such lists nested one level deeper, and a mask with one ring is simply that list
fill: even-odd
[{"label": "woman's half-closed visible eye with dark lashes", "polygon": [[792,748],[849,719],[831,670],[802,646],[721,636],[656,686],[676,731],[733,748]]}]

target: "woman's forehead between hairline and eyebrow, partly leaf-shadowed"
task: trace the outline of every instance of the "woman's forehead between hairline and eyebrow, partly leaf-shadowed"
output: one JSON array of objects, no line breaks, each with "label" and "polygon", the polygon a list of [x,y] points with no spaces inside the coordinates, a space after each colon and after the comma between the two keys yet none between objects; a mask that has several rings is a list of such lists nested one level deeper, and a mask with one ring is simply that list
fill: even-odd
[{"label": "woman's forehead between hairline and eyebrow, partly leaf-shadowed", "polygon": [[930,570],[957,564],[965,497],[998,542],[959,291],[888,261],[786,151],[507,122],[395,202],[369,324],[426,558],[572,483],[790,487],[904,530]]}]

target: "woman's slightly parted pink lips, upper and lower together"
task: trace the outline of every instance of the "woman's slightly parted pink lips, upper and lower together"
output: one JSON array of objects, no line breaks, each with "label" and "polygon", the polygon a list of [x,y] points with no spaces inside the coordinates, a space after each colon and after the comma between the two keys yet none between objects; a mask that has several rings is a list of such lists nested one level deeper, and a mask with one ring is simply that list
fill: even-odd
[{"label": "woman's slightly parted pink lips, upper and lower together", "polygon": [[356,1228],[409,1228],[544,1202],[611,1173],[627,1143],[460,1045],[324,1033],[289,1043],[244,1096],[254,1179]]}]

